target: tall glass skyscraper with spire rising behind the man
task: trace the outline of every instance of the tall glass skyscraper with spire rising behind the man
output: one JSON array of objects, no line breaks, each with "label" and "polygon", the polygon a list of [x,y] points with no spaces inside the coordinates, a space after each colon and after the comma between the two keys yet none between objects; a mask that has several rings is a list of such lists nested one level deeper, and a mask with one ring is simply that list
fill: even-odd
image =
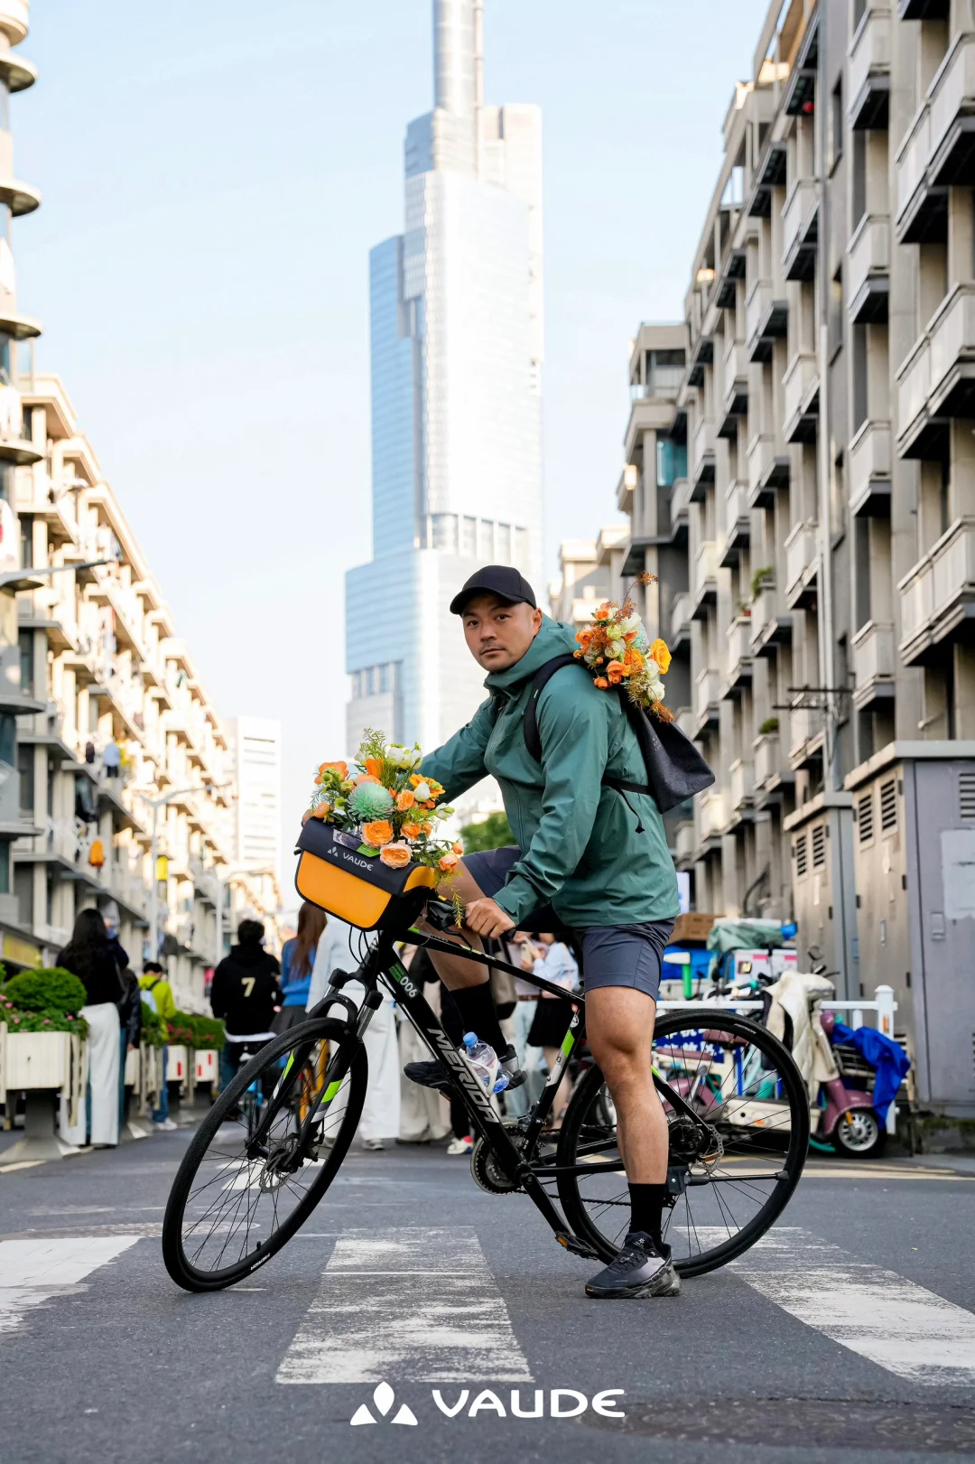
[{"label": "tall glass skyscraper with spire rising behind the man", "polygon": [[406,230],[369,258],[372,561],[345,580],[348,750],[432,748],[483,700],[448,612],[480,564],[542,571],[542,117],[486,107],[480,0],[433,3],[435,107]]}]

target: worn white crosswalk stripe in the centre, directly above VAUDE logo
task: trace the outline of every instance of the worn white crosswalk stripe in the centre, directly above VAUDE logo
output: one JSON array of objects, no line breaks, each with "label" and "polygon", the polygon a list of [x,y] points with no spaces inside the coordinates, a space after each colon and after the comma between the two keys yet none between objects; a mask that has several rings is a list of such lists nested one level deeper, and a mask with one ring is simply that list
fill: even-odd
[{"label": "worn white crosswalk stripe in the centre, directly above VAUDE logo", "polygon": [[347,1230],[283,1383],[531,1382],[473,1227]]}]

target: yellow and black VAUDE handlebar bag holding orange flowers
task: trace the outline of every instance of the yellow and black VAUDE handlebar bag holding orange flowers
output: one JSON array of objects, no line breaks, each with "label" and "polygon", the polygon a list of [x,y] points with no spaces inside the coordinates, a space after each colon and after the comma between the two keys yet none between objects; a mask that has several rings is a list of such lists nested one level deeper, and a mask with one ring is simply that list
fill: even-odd
[{"label": "yellow and black VAUDE handlebar bag holding orange flowers", "polygon": [[414,862],[391,870],[378,854],[360,854],[354,834],[321,818],[309,818],[297,848],[294,887],[302,899],[359,930],[406,933],[436,889],[435,870]]}]

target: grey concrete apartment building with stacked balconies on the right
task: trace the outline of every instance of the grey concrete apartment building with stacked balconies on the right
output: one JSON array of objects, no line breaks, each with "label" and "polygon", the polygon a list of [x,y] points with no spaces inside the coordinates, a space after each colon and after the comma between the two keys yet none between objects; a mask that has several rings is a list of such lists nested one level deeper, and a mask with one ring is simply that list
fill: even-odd
[{"label": "grey concrete apartment building with stacked balconies on the right", "polygon": [[[776,0],[657,426],[687,444],[668,504],[717,774],[678,864],[698,909],[795,914],[842,988],[892,984],[919,1064],[975,915],[974,119],[968,3]],[[953,1101],[975,1099],[972,1025]]]}]

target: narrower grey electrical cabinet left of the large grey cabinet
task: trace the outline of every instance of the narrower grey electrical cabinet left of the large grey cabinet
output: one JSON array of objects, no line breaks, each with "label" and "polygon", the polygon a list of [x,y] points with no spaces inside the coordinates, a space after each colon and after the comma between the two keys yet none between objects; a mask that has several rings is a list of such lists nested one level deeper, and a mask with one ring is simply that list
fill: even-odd
[{"label": "narrower grey electrical cabinet left of the large grey cabinet", "polygon": [[849,793],[820,793],[782,820],[789,840],[799,969],[821,952],[840,1001],[861,994],[856,976],[852,813]]}]

